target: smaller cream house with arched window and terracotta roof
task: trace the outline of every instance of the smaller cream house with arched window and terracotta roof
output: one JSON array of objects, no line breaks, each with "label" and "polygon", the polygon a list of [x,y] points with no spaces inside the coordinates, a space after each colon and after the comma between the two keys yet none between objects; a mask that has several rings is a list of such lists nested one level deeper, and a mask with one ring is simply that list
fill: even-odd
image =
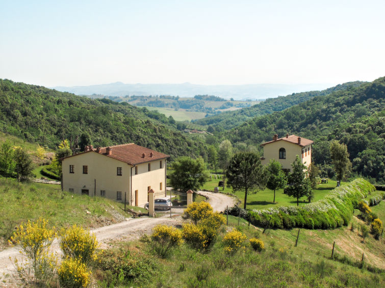
[{"label": "smaller cream house with arched window and terracotta roof", "polygon": [[275,134],[272,141],[265,142],[261,146],[264,148],[262,165],[270,162],[270,159],[279,161],[285,172],[290,172],[296,156],[298,155],[302,163],[309,167],[312,163],[312,145],[314,141],[296,135],[286,134],[285,137],[278,138]]}]

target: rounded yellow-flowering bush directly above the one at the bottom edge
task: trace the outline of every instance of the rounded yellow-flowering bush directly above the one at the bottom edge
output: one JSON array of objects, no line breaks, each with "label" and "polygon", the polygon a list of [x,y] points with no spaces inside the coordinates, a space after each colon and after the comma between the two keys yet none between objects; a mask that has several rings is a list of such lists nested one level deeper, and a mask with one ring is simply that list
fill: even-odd
[{"label": "rounded yellow-flowering bush directly above the one at the bottom edge", "polygon": [[95,235],[80,226],[73,225],[61,231],[60,248],[66,257],[77,258],[87,265],[95,260],[97,247]]}]

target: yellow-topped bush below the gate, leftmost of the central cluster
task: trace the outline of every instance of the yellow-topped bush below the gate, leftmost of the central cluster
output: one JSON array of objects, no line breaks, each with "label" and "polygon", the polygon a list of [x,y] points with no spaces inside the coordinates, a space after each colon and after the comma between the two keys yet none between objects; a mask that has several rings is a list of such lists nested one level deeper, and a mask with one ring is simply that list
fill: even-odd
[{"label": "yellow-topped bush below the gate, leftmost of the central cluster", "polygon": [[157,225],[152,229],[151,240],[153,248],[161,256],[167,256],[170,248],[183,243],[182,233],[174,227]]}]

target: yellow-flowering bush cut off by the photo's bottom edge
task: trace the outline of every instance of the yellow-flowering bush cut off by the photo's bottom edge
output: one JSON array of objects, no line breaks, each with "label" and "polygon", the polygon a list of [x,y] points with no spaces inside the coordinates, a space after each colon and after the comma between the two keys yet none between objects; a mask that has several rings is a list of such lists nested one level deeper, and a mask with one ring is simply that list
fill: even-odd
[{"label": "yellow-flowering bush cut off by the photo's bottom edge", "polygon": [[87,287],[91,281],[91,272],[78,258],[67,258],[58,269],[59,283],[62,287]]}]

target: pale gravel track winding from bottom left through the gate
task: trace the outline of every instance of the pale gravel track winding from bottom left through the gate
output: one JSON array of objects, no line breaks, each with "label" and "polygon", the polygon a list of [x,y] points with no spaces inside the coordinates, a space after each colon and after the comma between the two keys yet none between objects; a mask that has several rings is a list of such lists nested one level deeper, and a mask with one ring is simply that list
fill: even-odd
[{"label": "pale gravel track winding from bottom left through the gate", "polygon": [[[232,207],[236,203],[234,197],[230,197],[220,193],[204,192],[199,191],[199,194],[209,198],[209,203],[213,207],[214,211],[224,211],[226,206]],[[123,221],[117,224],[104,226],[91,230],[91,233],[95,233],[96,239],[99,242],[101,248],[111,247],[111,241],[123,241],[123,240],[135,240],[143,234],[150,234],[151,230],[157,224],[168,224],[168,225],[181,225],[183,222],[182,217],[176,216],[170,218],[168,214],[160,218],[130,218],[127,221]],[[56,240],[52,249],[56,252],[60,252],[58,241]],[[19,249],[16,247],[8,248],[0,251],[0,281],[6,279],[8,282],[10,279],[7,274],[13,274],[15,271],[14,266],[9,259],[20,257]],[[14,287],[15,284],[0,282],[0,287]],[[17,286],[17,285],[16,285]]]}]

